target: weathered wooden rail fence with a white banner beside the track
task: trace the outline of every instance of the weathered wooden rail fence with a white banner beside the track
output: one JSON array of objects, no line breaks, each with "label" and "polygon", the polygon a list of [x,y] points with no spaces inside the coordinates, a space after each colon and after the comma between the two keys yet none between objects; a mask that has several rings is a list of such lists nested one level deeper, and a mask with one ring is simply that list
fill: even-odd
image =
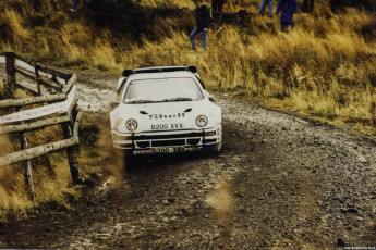
[{"label": "weathered wooden rail fence with a white banner beside the track", "polygon": [[[5,111],[9,113],[0,116],[0,135],[19,134],[21,142],[21,151],[0,157],[0,167],[22,162],[25,182],[33,195],[34,185],[29,160],[66,150],[72,180],[74,184],[78,184],[81,180],[76,151],[80,146],[78,128],[82,113],[77,111],[76,104],[76,75],[43,66],[13,52],[0,54],[1,63],[5,63],[7,88],[10,91],[22,89],[33,97],[0,100],[2,113]],[[19,83],[16,74],[28,80],[23,84]],[[29,84],[31,82],[33,84]],[[58,124],[61,125],[63,140],[27,148],[26,132],[35,132]]]}]

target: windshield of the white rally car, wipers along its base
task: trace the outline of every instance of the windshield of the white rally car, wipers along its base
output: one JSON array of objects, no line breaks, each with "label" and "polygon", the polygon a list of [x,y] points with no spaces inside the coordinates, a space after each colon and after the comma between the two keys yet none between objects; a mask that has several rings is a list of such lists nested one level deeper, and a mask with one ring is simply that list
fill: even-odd
[{"label": "windshield of the white rally car, wipers along its base", "polygon": [[124,103],[196,101],[204,98],[190,77],[133,80],[126,88]]}]

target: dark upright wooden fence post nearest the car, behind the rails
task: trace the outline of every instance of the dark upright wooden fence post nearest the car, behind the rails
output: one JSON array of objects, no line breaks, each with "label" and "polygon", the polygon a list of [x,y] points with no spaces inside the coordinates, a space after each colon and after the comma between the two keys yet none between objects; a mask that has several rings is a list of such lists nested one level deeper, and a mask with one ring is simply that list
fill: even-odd
[{"label": "dark upright wooden fence post nearest the car, behind the rails", "polygon": [[[75,115],[72,115],[72,123],[74,124]],[[70,123],[61,124],[61,128],[63,130],[63,136],[65,139],[71,138],[73,136],[72,125]],[[71,170],[71,176],[73,184],[81,184],[80,180],[80,170],[78,170],[78,162],[77,162],[77,146],[73,146],[66,149],[68,161]]]}]

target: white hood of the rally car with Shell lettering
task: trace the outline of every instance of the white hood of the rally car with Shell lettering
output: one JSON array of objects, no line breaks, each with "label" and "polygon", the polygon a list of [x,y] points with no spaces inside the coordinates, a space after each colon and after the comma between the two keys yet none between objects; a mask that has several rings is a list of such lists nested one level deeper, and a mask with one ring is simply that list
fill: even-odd
[{"label": "white hood of the rally car with Shell lettering", "polygon": [[[204,128],[215,127],[221,123],[220,107],[206,99],[199,101],[119,104],[110,113],[111,128],[120,133],[130,133],[125,127],[125,122],[130,118],[137,122],[138,126],[135,133],[155,130],[156,125],[165,125],[161,130],[202,129],[196,124],[198,115],[205,115],[208,118],[208,124]],[[154,126],[151,127],[151,125]]]}]

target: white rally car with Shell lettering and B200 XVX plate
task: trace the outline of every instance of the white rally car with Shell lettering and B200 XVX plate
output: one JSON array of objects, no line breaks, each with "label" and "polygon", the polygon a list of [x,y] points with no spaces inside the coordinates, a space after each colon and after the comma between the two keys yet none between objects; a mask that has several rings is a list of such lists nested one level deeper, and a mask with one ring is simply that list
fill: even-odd
[{"label": "white rally car with Shell lettering and B200 XVX plate", "polygon": [[111,111],[113,147],[126,154],[219,152],[220,107],[195,66],[125,70]]}]

